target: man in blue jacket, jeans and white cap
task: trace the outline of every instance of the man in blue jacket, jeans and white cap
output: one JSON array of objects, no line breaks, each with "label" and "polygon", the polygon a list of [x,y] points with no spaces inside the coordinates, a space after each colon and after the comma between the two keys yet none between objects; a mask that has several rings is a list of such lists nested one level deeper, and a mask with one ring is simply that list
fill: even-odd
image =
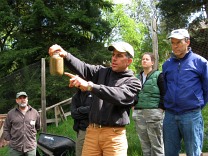
[{"label": "man in blue jacket, jeans and white cap", "polygon": [[204,132],[201,110],[208,102],[208,62],[188,48],[186,29],[174,30],[168,38],[172,54],[162,67],[165,156],[179,155],[182,139],[188,156],[200,156]]}]

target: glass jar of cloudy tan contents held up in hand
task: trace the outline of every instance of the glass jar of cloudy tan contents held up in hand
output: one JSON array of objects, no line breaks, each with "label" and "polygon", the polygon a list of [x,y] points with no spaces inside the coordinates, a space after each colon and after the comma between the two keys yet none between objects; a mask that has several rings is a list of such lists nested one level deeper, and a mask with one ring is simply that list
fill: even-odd
[{"label": "glass jar of cloudy tan contents held up in hand", "polygon": [[64,59],[59,56],[58,52],[54,52],[50,57],[50,74],[62,76],[64,73]]}]

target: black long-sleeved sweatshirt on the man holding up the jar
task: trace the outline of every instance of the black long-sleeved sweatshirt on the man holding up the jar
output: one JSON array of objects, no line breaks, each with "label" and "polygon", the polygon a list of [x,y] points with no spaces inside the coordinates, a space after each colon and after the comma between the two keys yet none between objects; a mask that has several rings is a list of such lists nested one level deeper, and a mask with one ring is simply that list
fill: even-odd
[{"label": "black long-sleeved sweatshirt on the man holding up the jar", "polygon": [[95,66],[67,55],[70,70],[94,83],[89,122],[104,126],[124,126],[130,123],[131,106],[137,102],[141,82],[131,70],[114,72],[111,67]]}]

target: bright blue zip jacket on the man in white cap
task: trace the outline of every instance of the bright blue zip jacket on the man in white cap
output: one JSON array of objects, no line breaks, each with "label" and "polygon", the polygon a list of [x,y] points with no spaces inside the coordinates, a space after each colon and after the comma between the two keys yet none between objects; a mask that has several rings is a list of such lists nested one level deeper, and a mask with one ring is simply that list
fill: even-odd
[{"label": "bright blue zip jacket on the man in white cap", "polygon": [[172,56],[163,64],[164,106],[174,114],[202,109],[208,102],[208,62],[189,51],[182,59]]}]

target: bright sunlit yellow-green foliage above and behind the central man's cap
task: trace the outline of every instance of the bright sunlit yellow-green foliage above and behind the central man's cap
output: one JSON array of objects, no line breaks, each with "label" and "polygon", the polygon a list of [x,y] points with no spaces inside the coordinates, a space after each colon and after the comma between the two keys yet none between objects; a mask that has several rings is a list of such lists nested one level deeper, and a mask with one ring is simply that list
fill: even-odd
[{"label": "bright sunlit yellow-green foliage above and behind the central man's cap", "polygon": [[[123,5],[114,6],[113,13],[107,14],[107,19],[114,27],[110,41],[123,40],[134,47],[135,58],[130,68],[137,72],[141,54],[147,50],[144,40],[148,36],[147,27],[142,22],[136,22],[125,10]],[[143,51],[144,50],[144,51]]]}]

